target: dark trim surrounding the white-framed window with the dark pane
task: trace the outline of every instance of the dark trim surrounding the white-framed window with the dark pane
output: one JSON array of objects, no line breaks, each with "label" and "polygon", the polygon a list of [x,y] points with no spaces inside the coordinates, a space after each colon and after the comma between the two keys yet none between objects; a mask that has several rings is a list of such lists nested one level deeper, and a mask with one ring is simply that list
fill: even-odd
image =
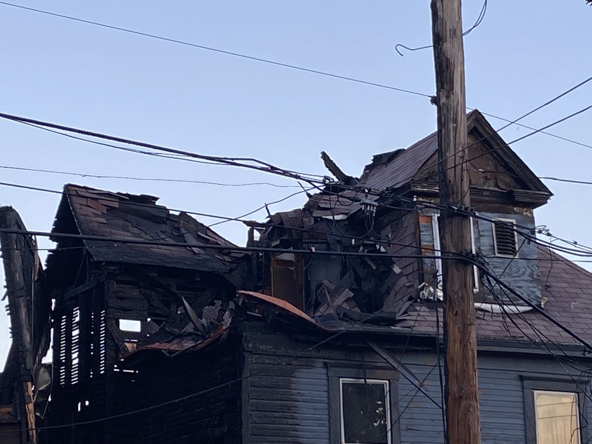
[{"label": "dark trim surrounding the white-framed window with the dark pane", "polygon": [[[332,363],[327,363],[327,374],[329,377],[329,422],[330,422],[330,443],[343,444],[343,429],[342,429],[342,379],[363,381],[384,381],[388,382],[387,397],[388,397],[388,415],[387,418],[390,424],[399,417],[398,412],[398,372],[391,366],[377,366],[372,364],[366,365],[365,368],[360,366],[336,366]],[[389,444],[397,444],[401,441],[400,421],[397,421],[391,427],[389,437]]]}]

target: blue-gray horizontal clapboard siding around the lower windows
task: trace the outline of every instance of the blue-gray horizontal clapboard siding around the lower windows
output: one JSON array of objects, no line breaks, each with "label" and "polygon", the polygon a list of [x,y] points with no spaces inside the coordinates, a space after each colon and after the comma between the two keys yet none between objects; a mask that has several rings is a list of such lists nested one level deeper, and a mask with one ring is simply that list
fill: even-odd
[{"label": "blue-gray horizontal clapboard siding around the lower windows", "polygon": [[[251,342],[255,344],[257,341]],[[248,400],[244,442],[326,443],[330,442],[329,379],[327,363],[366,366],[384,361],[371,349],[317,348],[289,359],[298,348],[267,346],[246,351],[245,372],[255,374],[244,380]],[[303,346],[301,346],[302,348]],[[305,349],[303,349],[305,350]],[[398,356],[394,352],[394,356]],[[288,361],[288,362],[287,362]],[[403,362],[424,382],[426,390],[441,404],[436,356],[406,352]],[[279,364],[278,364],[279,363]],[[274,365],[274,366],[271,366]],[[479,390],[481,441],[484,444],[523,443],[526,440],[522,377],[567,378],[565,369],[553,358],[480,353]],[[572,375],[578,377],[574,371]],[[244,392],[243,392],[244,393]],[[398,411],[401,443],[442,443],[442,413],[417,391],[406,378],[398,382]],[[592,419],[588,403],[588,420]]]}]

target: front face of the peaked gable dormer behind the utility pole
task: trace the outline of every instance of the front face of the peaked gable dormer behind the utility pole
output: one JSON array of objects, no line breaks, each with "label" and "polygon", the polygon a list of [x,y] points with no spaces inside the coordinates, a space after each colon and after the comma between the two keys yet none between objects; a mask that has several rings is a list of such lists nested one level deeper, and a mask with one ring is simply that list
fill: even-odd
[{"label": "front face of the peaked gable dormer behind the utility pole", "polygon": [[[552,193],[479,111],[472,111],[467,120],[471,207],[482,216],[472,218],[473,250],[480,253],[496,275],[533,303],[540,304],[538,249],[522,233],[535,233],[533,210],[545,204]],[[433,137],[436,140],[435,134]],[[422,200],[439,200],[437,156],[434,146],[429,159],[410,181],[410,192]],[[439,247],[437,220],[436,211],[423,210],[419,214],[424,249]],[[441,269],[437,260],[422,262],[424,275]],[[492,294],[491,286],[480,279],[476,269],[474,282],[476,301],[500,303],[510,299],[521,304],[499,287],[494,287]]]}]

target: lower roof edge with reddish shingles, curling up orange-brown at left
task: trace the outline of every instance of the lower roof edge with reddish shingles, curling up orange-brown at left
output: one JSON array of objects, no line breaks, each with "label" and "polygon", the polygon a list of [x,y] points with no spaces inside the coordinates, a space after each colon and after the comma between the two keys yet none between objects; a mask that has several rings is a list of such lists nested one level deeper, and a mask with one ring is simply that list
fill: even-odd
[{"label": "lower roof edge with reddish shingles, curling up orange-brown at left", "polygon": [[[547,247],[539,247],[538,266],[540,270],[540,285],[546,298],[543,310],[555,318],[562,325],[592,344],[592,272],[581,268],[570,260],[552,252]],[[322,317],[311,318],[303,311],[281,299],[254,292],[239,291],[242,297],[249,297],[260,302],[274,305],[295,321],[307,321],[314,326],[326,330],[353,330],[368,332],[392,332],[396,327],[398,332],[408,330],[414,334],[436,334],[436,311],[434,302],[416,299],[406,308],[406,315],[394,324],[385,326],[369,326],[361,321],[339,320],[327,323]],[[442,333],[442,303],[439,305],[439,331]],[[476,304],[477,306],[479,304]],[[514,308],[507,306],[508,312]],[[481,309],[476,310],[477,336],[480,339],[501,339],[556,343],[561,345],[578,345],[573,337],[564,332],[538,311],[530,310],[521,314],[491,313]],[[532,326],[532,327],[531,327]],[[537,329],[537,331],[533,330]]]}]

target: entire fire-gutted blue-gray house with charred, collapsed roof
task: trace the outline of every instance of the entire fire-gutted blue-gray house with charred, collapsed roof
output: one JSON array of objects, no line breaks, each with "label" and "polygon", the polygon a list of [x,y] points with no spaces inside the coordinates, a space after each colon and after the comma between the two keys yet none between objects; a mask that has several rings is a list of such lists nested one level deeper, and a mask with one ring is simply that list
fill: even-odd
[{"label": "entire fire-gutted blue-gray house with charred, collapsed roof", "polygon": [[[468,131],[475,257],[520,295],[475,268],[482,442],[587,442],[592,361],[531,305],[592,342],[592,274],[535,242],[549,189],[479,112]],[[442,443],[436,134],[359,178],[323,160],[336,181],[247,222],[249,249],[155,197],[66,185],[41,268],[22,222],[3,219],[17,231],[1,233],[14,352],[0,433],[6,420],[12,442]],[[19,249],[28,262],[7,255]],[[9,274],[31,276],[24,293]],[[26,301],[44,308],[23,305],[21,322]]]}]

